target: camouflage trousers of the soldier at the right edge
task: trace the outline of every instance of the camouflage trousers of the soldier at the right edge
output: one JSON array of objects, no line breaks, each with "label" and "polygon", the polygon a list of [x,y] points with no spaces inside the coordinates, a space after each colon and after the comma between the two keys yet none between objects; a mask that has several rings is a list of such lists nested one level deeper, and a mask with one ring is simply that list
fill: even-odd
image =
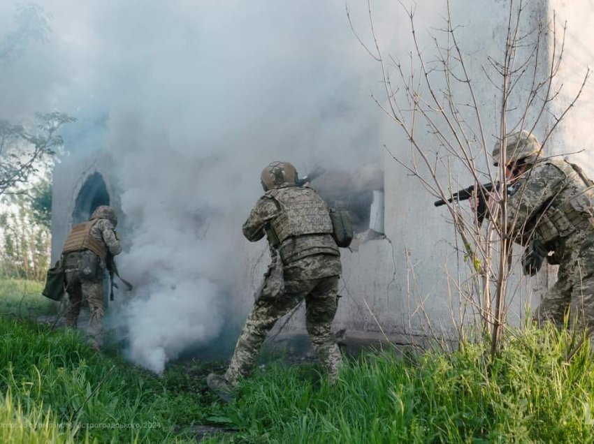
[{"label": "camouflage trousers of the soldier at the right edge", "polygon": [[534,318],[542,324],[551,320],[563,326],[569,311],[570,322],[594,327],[594,235],[578,233],[565,245],[557,281],[542,297]]}]

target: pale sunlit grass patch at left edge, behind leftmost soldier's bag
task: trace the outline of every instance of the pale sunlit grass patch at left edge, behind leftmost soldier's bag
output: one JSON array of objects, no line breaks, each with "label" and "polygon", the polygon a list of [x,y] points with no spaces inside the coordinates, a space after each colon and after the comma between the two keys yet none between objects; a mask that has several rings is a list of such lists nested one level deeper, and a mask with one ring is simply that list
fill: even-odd
[{"label": "pale sunlit grass patch at left edge, behind leftmost soldier's bag", "polygon": [[43,283],[25,279],[0,279],[0,313],[34,318],[57,313],[57,302],[41,295]]}]

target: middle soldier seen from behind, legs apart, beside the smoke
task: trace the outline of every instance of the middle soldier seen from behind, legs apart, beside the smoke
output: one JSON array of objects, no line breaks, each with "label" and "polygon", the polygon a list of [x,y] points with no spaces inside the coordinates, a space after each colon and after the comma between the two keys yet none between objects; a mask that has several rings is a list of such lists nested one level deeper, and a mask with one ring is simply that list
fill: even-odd
[{"label": "middle soldier seen from behind, legs apart, beside the smoke", "polygon": [[229,369],[224,376],[211,373],[207,378],[208,386],[223,398],[252,369],[276,321],[303,299],[307,332],[331,380],[337,377],[340,364],[331,323],[342,267],[328,207],[312,188],[297,186],[296,170],[288,162],[270,163],[261,181],[266,193],[243,224],[243,234],[251,242],[266,235],[273,260]]}]

